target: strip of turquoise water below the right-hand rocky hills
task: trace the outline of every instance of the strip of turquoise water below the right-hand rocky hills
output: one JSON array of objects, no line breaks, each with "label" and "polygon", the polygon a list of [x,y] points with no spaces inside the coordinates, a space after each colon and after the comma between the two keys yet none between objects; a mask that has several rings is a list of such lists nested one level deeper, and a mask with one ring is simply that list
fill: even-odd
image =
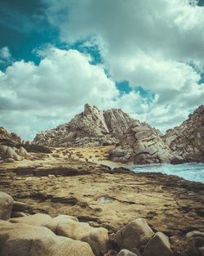
[{"label": "strip of turquoise water below the right-hand rocky hills", "polygon": [[144,164],[128,166],[135,173],[166,173],[184,177],[192,182],[204,183],[204,164]]}]

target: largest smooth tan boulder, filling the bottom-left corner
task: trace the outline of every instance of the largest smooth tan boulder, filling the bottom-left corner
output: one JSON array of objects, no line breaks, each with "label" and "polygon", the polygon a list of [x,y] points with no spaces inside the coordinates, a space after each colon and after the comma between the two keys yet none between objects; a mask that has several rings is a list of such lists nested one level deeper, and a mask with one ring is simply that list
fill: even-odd
[{"label": "largest smooth tan boulder, filling the bottom-left corner", "polygon": [[1,256],[94,256],[90,245],[56,236],[46,227],[33,227],[23,223],[0,225]]}]

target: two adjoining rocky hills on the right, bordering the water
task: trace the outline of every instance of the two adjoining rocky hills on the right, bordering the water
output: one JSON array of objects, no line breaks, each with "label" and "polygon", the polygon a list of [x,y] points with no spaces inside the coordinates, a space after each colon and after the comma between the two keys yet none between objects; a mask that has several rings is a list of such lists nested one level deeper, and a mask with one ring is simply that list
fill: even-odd
[{"label": "two adjoining rocky hills on the right, bordering the water", "polygon": [[109,150],[114,162],[133,164],[204,163],[204,108],[199,106],[179,127],[161,132],[135,121]]}]

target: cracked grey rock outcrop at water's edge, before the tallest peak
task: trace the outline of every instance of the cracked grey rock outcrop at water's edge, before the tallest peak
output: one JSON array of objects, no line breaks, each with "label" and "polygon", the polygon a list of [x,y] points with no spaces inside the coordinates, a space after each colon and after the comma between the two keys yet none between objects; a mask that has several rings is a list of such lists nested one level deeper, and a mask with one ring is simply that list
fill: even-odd
[{"label": "cracked grey rock outcrop at water's edge, before the tallest peak", "polygon": [[162,132],[137,120],[124,132],[119,146],[109,150],[109,159],[122,163],[170,163],[173,156]]}]

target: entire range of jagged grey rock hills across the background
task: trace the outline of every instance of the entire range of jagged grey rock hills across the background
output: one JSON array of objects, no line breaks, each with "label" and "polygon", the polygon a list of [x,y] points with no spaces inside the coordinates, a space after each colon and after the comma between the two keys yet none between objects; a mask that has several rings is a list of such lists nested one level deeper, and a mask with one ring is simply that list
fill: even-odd
[{"label": "entire range of jagged grey rock hills across the background", "polygon": [[122,110],[99,110],[86,104],[69,123],[40,132],[35,145],[107,146],[109,159],[130,164],[204,162],[204,108],[200,106],[179,127],[162,132],[131,119]]}]

